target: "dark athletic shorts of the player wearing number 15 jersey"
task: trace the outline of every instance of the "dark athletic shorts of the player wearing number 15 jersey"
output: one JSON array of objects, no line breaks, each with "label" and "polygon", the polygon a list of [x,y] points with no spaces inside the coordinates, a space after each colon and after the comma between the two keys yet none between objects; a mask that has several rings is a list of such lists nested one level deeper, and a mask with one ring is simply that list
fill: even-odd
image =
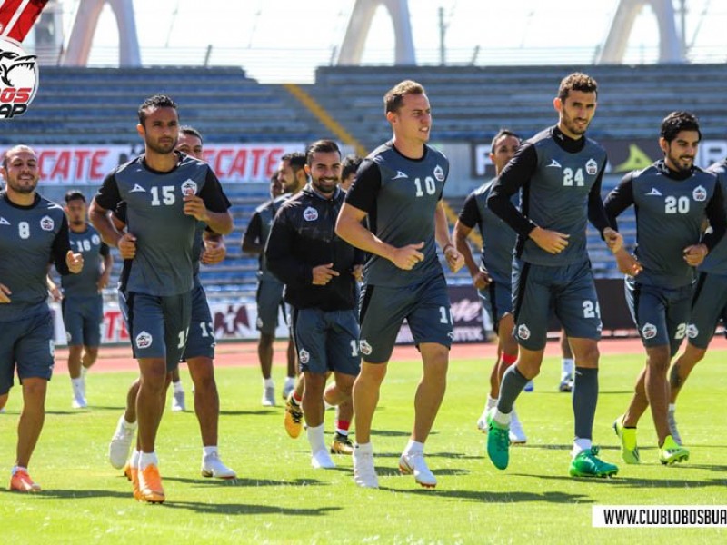
[{"label": "dark athletic shorts of the player wearing number 15 jersey", "polygon": [[156,296],[119,291],[119,307],[134,358],[164,358],[166,371],[179,365],[192,314],[192,292]]}]

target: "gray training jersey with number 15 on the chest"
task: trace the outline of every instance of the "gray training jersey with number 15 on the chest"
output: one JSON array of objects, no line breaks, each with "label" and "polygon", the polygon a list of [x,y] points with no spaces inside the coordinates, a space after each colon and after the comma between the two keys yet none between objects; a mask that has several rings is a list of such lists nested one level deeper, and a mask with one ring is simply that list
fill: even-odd
[{"label": "gray training jersey with number 15 on the chest", "polygon": [[230,203],[207,163],[182,154],[174,170],[150,169],[144,156],[117,167],[95,197],[106,210],[126,203],[126,226],[136,255],[124,261],[121,289],[156,296],[189,292],[194,275],[197,220],[184,214],[184,195],[196,194],[212,212]]}]

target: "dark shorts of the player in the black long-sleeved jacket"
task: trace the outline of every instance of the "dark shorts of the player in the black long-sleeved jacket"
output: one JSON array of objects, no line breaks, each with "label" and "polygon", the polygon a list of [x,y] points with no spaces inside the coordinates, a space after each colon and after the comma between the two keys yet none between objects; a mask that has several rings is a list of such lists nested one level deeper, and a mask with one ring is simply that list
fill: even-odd
[{"label": "dark shorts of the player in the black long-sleeved jacket", "polygon": [[293,309],[295,350],[302,372],[343,372],[361,369],[359,327],[354,310]]}]

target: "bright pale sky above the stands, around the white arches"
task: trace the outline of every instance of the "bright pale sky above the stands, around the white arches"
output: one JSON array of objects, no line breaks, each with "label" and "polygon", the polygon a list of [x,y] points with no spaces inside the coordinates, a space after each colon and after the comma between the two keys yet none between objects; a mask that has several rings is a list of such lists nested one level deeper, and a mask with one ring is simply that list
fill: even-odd
[{"label": "bright pale sky above the stands, around the white arches", "polygon": [[[67,35],[78,0],[61,4]],[[197,64],[212,46],[211,64],[243,64],[262,81],[313,81],[315,66],[332,64],[353,5],[354,0],[134,0],[134,11],[144,64]],[[555,64],[591,62],[617,5],[618,0],[410,0],[409,10],[420,64],[440,61],[440,7],[450,64]],[[678,9],[680,0],[674,5]],[[686,7],[691,58],[724,61],[727,2],[686,0]],[[117,36],[106,5],[90,64],[114,63]],[[657,51],[656,20],[647,7],[634,25],[626,62],[654,62]],[[379,8],[364,64],[392,63],[392,25]]]}]

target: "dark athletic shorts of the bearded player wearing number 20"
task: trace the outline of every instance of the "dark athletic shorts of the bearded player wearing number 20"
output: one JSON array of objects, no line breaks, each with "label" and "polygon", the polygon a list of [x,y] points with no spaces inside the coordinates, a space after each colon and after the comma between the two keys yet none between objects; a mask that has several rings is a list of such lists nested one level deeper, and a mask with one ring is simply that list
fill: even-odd
[{"label": "dark athletic shorts of the bearded player wearing number 20", "polygon": [[627,277],[626,303],[646,348],[669,346],[672,357],[687,332],[692,307],[692,285],[662,288]]}]

